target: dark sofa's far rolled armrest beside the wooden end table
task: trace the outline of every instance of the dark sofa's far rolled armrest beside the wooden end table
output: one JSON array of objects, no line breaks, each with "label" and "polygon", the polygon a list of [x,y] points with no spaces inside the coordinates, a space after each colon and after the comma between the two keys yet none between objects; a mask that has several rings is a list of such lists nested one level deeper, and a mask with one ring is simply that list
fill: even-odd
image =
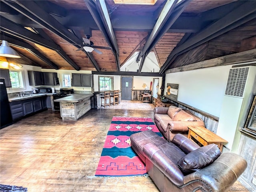
[{"label": "dark sofa's far rolled armrest beside the wooden end table", "polygon": [[174,143],[177,147],[179,147],[184,153],[188,154],[191,151],[194,151],[198,148],[200,148],[199,145],[188,139],[188,137],[185,137],[184,135],[178,133],[176,134],[173,139],[172,143]]}]

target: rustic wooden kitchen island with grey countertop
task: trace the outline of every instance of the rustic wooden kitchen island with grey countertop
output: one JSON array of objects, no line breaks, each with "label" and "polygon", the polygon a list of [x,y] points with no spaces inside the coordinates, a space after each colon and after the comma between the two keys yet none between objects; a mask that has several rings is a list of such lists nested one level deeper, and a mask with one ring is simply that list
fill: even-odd
[{"label": "rustic wooden kitchen island with grey countertop", "polygon": [[71,94],[54,100],[60,102],[60,117],[62,120],[78,120],[86,114],[92,108],[92,96],[93,94]]}]

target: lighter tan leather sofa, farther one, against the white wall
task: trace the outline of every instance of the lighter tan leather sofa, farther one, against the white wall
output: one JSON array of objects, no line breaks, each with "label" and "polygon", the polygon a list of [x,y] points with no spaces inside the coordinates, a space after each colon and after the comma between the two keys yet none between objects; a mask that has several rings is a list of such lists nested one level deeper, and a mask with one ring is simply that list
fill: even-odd
[{"label": "lighter tan leather sofa, farther one, against the white wall", "polygon": [[172,141],[174,135],[181,133],[188,136],[188,126],[203,126],[204,121],[190,111],[176,106],[156,107],[154,121],[162,135]]}]

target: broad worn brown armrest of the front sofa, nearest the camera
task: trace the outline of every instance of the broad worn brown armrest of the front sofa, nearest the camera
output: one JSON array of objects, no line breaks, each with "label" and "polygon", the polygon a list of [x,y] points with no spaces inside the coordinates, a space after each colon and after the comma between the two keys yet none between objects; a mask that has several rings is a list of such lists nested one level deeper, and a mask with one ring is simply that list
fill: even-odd
[{"label": "broad worn brown armrest of the front sofa, nearest the camera", "polygon": [[184,176],[184,184],[200,179],[212,191],[228,191],[247,167],[246,160],[236,153],[223,153],[211,165]]}]

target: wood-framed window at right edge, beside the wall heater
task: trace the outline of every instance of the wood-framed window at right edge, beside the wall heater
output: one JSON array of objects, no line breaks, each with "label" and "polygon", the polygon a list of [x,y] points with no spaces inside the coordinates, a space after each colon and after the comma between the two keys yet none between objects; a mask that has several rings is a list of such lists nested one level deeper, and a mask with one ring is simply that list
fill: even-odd
[{"label": "wood-framed window at right edge, beside the wall heater", "polygon": [[242,132],[256,137],[256,95],[253,95],[250,110]]}]

